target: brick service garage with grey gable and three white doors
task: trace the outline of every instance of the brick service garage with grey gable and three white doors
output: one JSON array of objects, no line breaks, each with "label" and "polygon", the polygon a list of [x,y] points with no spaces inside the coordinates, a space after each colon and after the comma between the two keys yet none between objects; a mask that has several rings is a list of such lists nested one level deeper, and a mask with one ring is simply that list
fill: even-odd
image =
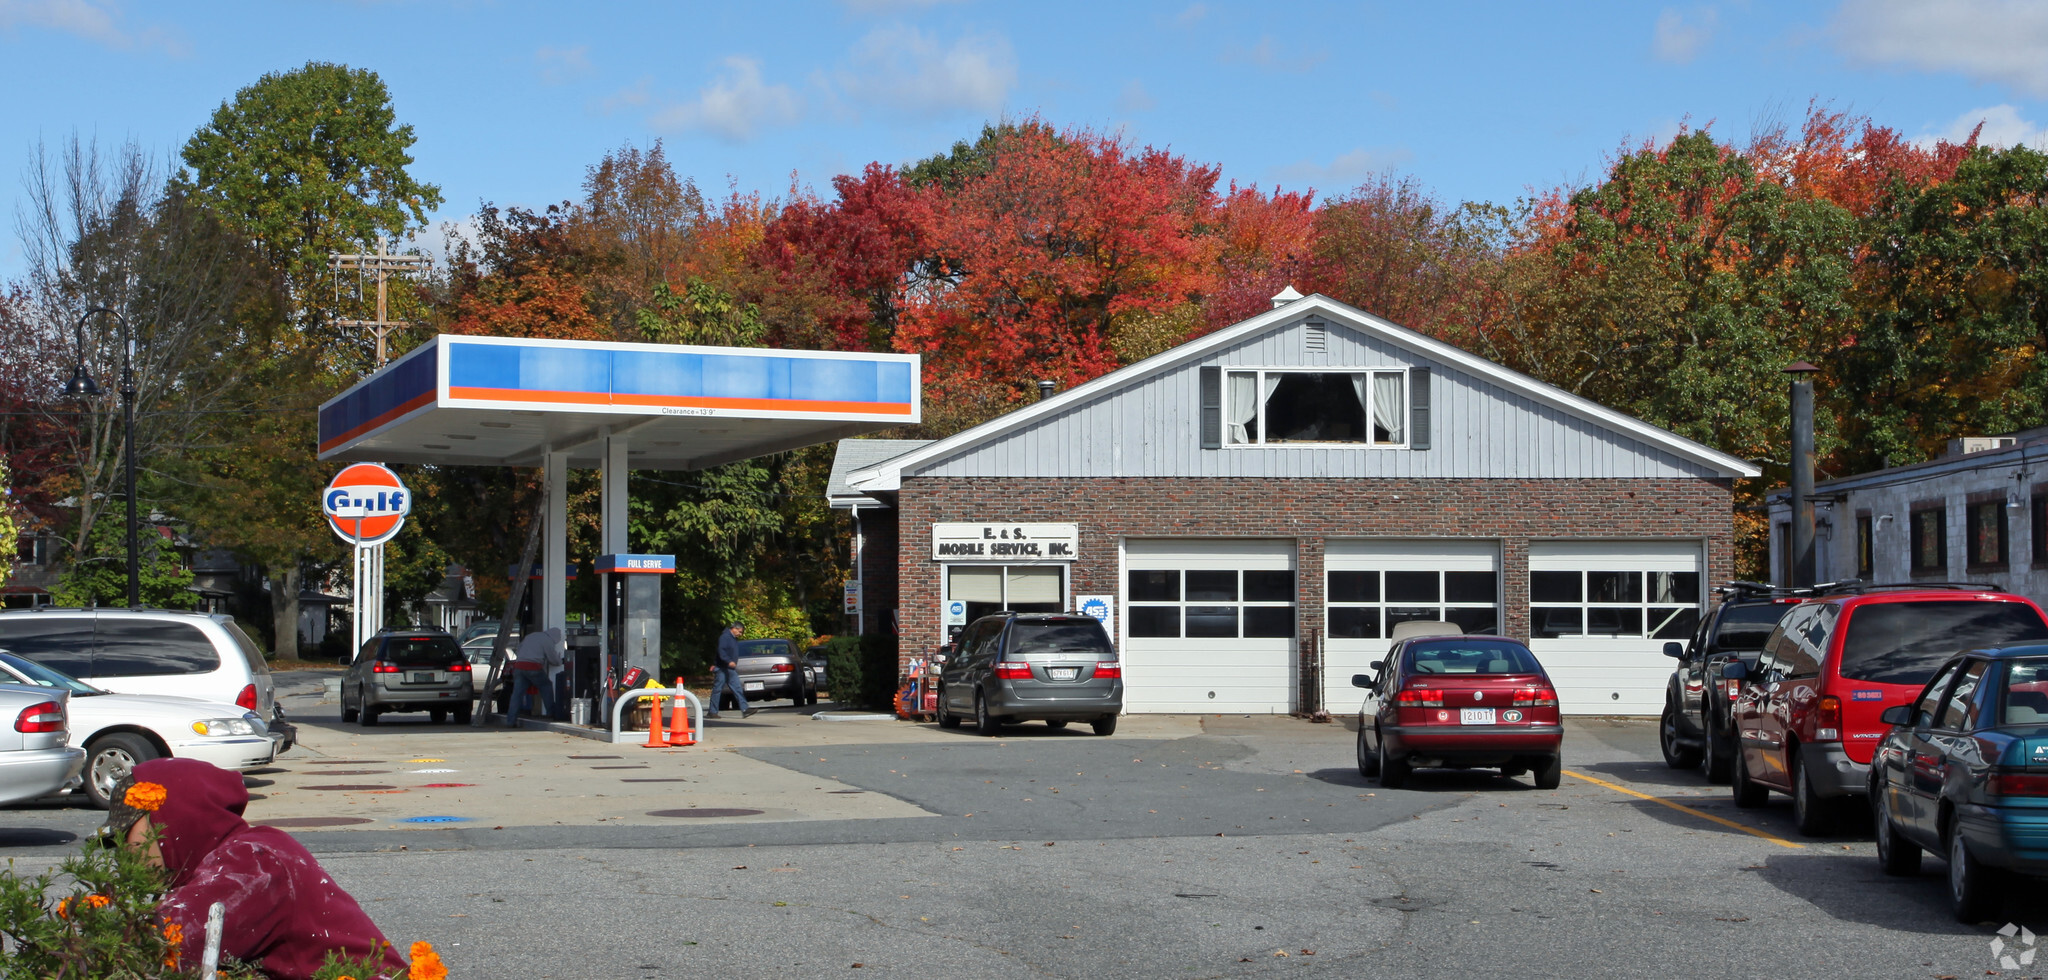
[{"label": "brick service garage with grey gable and three white doors", "polygon": [[862,616],[1108,618],[1130,712],[1352,710],[1403,620],[1530,642],[1655,714],[1755,466],[1327,297],[936,442],[846,440]]}]

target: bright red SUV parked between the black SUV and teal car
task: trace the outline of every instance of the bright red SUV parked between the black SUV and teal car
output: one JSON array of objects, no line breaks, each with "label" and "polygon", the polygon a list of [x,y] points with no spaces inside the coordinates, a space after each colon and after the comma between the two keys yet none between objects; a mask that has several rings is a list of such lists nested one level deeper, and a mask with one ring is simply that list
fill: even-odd
[{"label": "bright red SUV parked between the black SUV and teal car", "polygon": [[1956,651],[2048,640],[2048,616],[1982,585],[1866,585],[1796,606],[1757,663],[1729,663],[1735,698],[1735,806],[1792,794],[1800,833],[1835,827],[1864,798],[1884,708],[1911,704]]}]

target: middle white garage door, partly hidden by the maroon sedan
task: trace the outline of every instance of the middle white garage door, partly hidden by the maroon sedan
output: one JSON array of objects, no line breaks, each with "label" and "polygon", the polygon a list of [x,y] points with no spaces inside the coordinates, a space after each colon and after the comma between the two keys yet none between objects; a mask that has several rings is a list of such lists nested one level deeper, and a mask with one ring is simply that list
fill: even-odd
[{"label": "middle white garage door, partly hidden by the maroon sedan", "polygon": [[1493,540],[1329,540],[1325,546],[1323,708],[1352,714],[1399,622],[1448,620],[1501,630],[1501,546]]}]

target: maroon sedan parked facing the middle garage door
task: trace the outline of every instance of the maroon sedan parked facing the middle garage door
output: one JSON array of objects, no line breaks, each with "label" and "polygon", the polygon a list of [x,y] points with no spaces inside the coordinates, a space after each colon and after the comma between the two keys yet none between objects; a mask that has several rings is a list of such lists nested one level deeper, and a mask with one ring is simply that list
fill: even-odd
[{"label": "maroon sedan parked facing the middle garage door", "polygon": [[1556,687],[1528,647],[1505,636],[1417,636],[1397,640],[1372,669],[1352,675],[1366,689],[1360,775],[1395,788],[1417,767],[1499,767],[1534,771],[1538,790],[1556,790],[1565,728]]}]

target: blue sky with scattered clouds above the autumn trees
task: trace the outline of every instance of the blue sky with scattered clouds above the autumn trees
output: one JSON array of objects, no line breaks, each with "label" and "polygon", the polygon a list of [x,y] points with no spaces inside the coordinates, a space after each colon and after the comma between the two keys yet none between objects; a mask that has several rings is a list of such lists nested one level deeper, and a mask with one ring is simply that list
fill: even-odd
[{"label": "blue sky with scattered clouds above the autumn trees", "polygon": [[1741,139],[1808,100],[1909,137],[2048,145],[2048,4],[840,0],[0,0],[0,278],[37,141],[184,139],[264,72],[371,68],[418,131],[436,221],[547,205],[627,141],[707,192],[780,194],[1040,115],[1341,192],[1448,201],[1589,182],[1683,121]]}]

